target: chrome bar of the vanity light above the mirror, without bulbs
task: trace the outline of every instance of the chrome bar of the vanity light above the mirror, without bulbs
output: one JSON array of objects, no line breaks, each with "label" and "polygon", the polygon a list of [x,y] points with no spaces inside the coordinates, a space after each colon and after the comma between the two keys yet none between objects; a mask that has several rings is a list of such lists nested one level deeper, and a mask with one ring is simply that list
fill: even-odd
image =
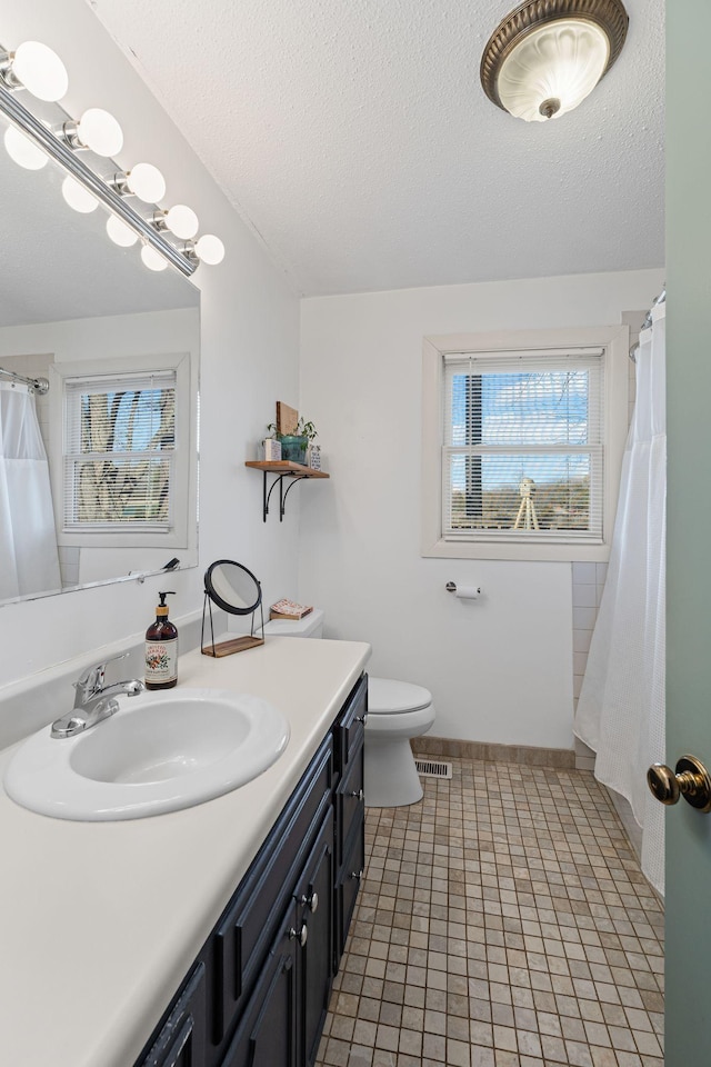
[{"label": "chrome bar of the vanity light above the mirror, without bulbs", "polygon": [[187,278],[194,273],[198,266],[196,262],[191,262],[170,241],[167,241],[149,219],[142,218],[111,186],[107,185],[98,174],[94,174],[80,156],[62,139],[52,133],[31,111],[28,111],[17,96],[1,83],[0,112],[7,116],[21,132],[40,144],[48,156],[54,159],[60,167],[63,167],[72,178],[76,178],[89,189],[97,200],[109,208],[127,226],[130,226],[144,243],[150,245],[161,256],[164,256]]}]

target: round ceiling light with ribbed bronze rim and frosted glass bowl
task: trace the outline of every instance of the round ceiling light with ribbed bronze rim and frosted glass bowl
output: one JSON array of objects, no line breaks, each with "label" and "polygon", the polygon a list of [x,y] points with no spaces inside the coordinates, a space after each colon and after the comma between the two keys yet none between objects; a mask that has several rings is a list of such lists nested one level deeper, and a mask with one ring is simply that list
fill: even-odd
[{"label": "round ceiling light with ribbed bronze rim and frosted glass bowl", "polygon": [[527,122],[572,111],[622,50],[621,0],[527,0],[497,27],[481,57],[489,99]]}]

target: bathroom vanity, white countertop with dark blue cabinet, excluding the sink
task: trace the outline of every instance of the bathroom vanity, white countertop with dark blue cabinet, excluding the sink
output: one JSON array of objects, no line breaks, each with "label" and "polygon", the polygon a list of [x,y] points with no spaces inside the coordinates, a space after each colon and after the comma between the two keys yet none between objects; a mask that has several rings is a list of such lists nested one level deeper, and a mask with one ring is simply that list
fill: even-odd
[{"label": "bathroom vanity, white countertop with dark blue cabinet, excluding the sink", "polygon": [[261,696],[291,727],[276,764],[207,804],[73,822],[0,796],[3,1059],[313,1063],[363,866],[369,651],[272,638],[182,657],[179,685]]}]

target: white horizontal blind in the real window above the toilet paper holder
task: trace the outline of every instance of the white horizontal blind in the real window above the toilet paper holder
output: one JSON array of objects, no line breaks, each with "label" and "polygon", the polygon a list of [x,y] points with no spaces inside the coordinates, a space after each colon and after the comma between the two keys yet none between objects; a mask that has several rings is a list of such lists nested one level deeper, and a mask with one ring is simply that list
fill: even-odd
[{"label": "white horizontal blind in the real window above the toilet paper holder", "polygon": [[602,540],[603,355],[444,357],[447,540]]}]

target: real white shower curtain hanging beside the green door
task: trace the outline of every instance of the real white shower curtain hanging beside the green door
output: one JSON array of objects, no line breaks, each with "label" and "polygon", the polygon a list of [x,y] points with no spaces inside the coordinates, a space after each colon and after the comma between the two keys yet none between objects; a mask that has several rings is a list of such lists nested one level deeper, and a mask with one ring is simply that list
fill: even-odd
[{"label": "real white shower curtain hanging beside the green door", "polygon": [[645,776],[664,761],[664,373],[661,305],[640,335],[610,565],[575,715],[575,734],[597,754],[595,778],[630,801],[642,828],[642,870],[660,893],[665,809]]}]

